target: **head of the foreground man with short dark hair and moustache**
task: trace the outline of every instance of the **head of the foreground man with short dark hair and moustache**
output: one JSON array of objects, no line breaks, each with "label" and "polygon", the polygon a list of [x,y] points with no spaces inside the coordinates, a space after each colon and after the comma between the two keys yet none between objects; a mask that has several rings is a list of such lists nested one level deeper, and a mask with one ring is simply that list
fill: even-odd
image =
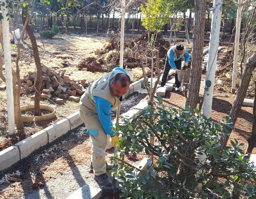
[{"label": "head of the foreground man with short dark hair and moustache", "polygon": [[121,97],[124,95],[131,84],[130,77],[124,73],[117,73],[110,85],[111,91],[115,97]]}]

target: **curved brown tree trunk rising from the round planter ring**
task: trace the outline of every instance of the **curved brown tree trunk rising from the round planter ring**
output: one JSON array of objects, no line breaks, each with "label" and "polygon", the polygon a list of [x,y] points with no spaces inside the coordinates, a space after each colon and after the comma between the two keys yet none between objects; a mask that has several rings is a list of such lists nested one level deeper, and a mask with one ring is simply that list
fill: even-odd
[{"label": "curved brown tree trunk rising from the round planter ring", "polygon": [[[26,17],[24,17],[24,14],[28,15],[28,5],[25,6],[25,8],[23,7],[22,9],[22,23],[23,26],[26,22]],[[35,116],[40,116],[41,115],[41,111],[40,111],[40,95],[41,95],[41,85],[42,85],[42,66],[41,66],[41,62],[40,62],[40,57],[39,57],[39,52],[38,52],[38,48],[37,48],[37,43],[36,43],[36,37],[34,36],[31,28],[29,27],[29,24],[26,26],[26,32],[31,40],[31,46],[33,49],[33,56],[34,56],[34,60],[36,63],[36,70],[37,70],[37,77],[36,77],[36,82],[34,83],[34,87],[35,87]]]}]

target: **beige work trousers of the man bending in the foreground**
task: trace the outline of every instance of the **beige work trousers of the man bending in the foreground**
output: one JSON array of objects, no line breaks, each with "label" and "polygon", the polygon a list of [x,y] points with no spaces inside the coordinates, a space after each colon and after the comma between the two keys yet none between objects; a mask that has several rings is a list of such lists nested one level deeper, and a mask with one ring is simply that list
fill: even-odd
[{"label": "beige work trousers of the man bending in the foreground", "polygon": [[106,173],[106,154],[107,143],[109,142],[110,136],[105,133],[98,114],[88,112],[83,104],[80,105],[80,117],[83,120],[87,130],[97,132],[97,135],[91,135],[92,142],[92,166],[94,175],[99,176]]}]

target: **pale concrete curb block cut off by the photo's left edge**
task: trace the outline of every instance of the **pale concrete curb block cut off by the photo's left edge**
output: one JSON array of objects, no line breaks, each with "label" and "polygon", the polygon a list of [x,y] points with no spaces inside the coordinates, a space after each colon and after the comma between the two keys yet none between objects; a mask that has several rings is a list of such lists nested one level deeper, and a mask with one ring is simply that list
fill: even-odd
[{"label": "pale concrete curb block cut off by the photo's left edge", "polygon": [[19,149],[16,146],[10,146],[0,151],[0,171],[10,167],[19,161]]}]

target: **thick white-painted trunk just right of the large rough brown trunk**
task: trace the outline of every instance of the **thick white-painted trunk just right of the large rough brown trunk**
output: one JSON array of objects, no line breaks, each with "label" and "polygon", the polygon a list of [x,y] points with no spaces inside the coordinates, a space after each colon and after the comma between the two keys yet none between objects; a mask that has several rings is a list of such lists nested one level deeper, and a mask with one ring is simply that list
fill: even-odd
[{"label": "thick white-painted trunk just right of the large rough brown trunk", "polygon": [[[214,0],[213,3],[213,13],[212,13],[212,24],[211,24],[211,34],[209,43],[209,57],[206,69],[205,81],[211,81],[211,86],[208,91],[204,91],[204,101],[203,101],[203,114],[207,115],[207,118],[211,117],[212,110],[212,97],[214,89],[215,71],[217,63],[217,53],[219,47],[219,36],[220,36],[220,22],[222,14],[222,3],[223,0]],[[207,86],[205,86],[207,88]]]}]

